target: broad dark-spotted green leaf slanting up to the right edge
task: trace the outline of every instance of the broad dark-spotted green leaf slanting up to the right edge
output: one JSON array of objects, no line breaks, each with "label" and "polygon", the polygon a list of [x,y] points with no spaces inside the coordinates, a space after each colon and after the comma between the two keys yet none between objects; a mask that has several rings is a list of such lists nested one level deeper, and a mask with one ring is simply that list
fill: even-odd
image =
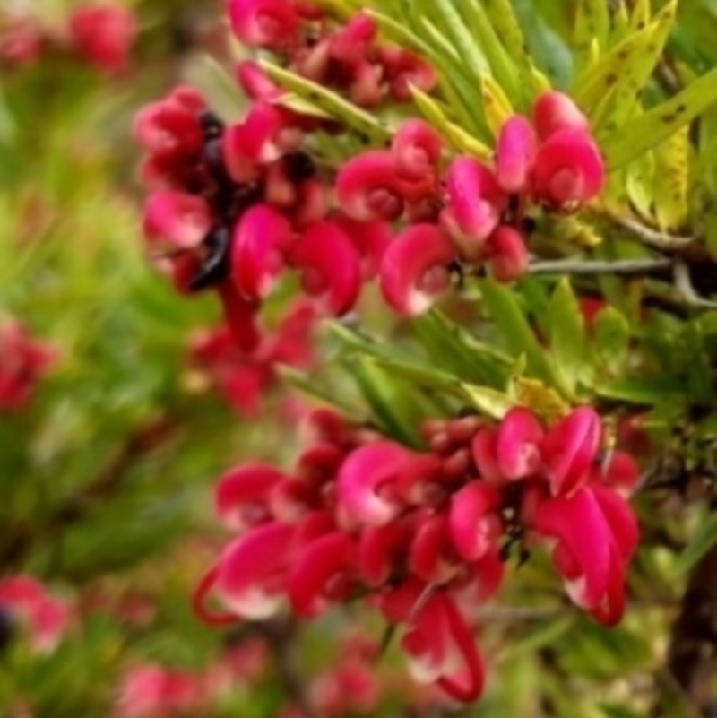
[{"label": "broad dark-spotted green leaf slanting up to the right edge", "polygon": [[717,101],[717,69],[649,112],[598,137],[609,171],[624,167],[664,142]]}]

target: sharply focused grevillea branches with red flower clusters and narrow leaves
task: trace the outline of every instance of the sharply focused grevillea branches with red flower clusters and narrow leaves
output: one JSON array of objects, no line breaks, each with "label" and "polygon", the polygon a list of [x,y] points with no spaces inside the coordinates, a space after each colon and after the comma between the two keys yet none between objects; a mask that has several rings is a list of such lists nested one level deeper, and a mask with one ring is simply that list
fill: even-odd
[{"label": "sharply focused grevillea branches with red flower clusters and narrow leaves", "polygon": [[[333,319],[367,413],[313,411],[293,463],[220,477],[233,537],[195,609],[228,625],[358,602],[399,627],[415,679],[474,701],[476,609],[512,558],[547,551],[570,601],[606,627],[625,612],[639,540],[629,500],[646,474],[615,427],[649,422],[636,403],[661,407],[638,399],[660,365],[639,336],[672,310],[652,308],[643,278],[666,270],[673,309],[713,306],[692,283],[695,263],[715,271],[709,247],[670,232],[689,217],[682,127],[716,95],[636,104],[674,4],[647,26],[642,10],[577,7],[576,35],[592,44],[572,92],[533,65],[508,3],[436,3],[430,21],[405,6],[225,5],[252,54],[230,68],[244,114],[219,117],[183,86],[135,120],[148,254],[179,293],[216,293],[224,341],[260,363],[264,313],[295,287]],[[646,190],[636,173],[651,162]],[[659,201],[659,168],[669,211],[635,196]],[[629,239],[639,258],[623,258]],[[379,311],[423,354],[392,329],[367,335]],[[341,406],[347,389],[324,391],[321,363],[302,386]],[[707,360],[705,388],[712,372]],[[238,390],[247,405],[258,383]]]}]

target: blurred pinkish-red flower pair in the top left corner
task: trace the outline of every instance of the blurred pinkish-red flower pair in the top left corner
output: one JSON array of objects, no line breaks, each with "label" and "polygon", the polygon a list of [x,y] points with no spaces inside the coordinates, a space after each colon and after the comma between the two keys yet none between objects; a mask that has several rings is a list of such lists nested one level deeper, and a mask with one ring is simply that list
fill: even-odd
[{"label": "blurred pinkish-red flower pair in the top left corner", "polygon": [[46,27],[27,14],[0,16],[0,66],[31,65],[40,56],[75,56],[105,73],[125,68],[137,34],[134,13],[114,2],[74,7],[62,28]]}]

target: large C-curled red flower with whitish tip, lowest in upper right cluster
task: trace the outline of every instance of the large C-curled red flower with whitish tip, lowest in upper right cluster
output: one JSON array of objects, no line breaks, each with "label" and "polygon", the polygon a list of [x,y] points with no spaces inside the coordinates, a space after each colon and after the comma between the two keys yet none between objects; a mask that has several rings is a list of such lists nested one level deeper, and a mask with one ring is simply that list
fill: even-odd
[{"label": "large C-curled red flower with whitish tip, lowest in upper right cluster", "polygon": [[381,290],[389,306],[405,316],[425,312],[448,287],[454,258],[454,245],[440,227],[420,223],[404,229],[381,263]]}]

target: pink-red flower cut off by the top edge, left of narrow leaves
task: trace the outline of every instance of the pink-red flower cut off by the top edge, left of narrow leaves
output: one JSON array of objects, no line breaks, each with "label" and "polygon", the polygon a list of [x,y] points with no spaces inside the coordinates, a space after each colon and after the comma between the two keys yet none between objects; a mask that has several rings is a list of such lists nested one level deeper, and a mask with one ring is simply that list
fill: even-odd
[{"label": "pink-red flower cut off by the top edge, left of narrow leaves", "polygon": [[250,47],[281,50],[298,39],[300,19],[289,0],[228,0],[234,34]]}]

